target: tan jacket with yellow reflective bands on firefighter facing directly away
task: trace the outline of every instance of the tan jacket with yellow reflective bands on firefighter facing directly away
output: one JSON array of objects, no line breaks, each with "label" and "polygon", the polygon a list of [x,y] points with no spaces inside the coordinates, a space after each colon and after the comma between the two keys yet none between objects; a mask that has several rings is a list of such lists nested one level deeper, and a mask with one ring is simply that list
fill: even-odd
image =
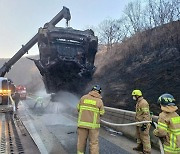
[{"label": "tan jacket with yellow reflective bands on firefighter facing directly away", "polygon": [[81,97],[77,109],[78,127],[96,129],[100,128],[100,115],[104,114],[104,105],[98,92],[91,91]]}]

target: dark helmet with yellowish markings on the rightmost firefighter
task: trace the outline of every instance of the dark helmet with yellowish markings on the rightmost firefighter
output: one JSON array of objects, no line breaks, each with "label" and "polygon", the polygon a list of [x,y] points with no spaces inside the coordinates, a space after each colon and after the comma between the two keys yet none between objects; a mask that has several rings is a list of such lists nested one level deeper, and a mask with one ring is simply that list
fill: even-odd
[{"label": "dark helmet with yellowish markings on the rightmost firefighter", "polygon": [[163,94],[158,98],[158,103],[163,106],[175,106],[175,99],[171,94]]}]

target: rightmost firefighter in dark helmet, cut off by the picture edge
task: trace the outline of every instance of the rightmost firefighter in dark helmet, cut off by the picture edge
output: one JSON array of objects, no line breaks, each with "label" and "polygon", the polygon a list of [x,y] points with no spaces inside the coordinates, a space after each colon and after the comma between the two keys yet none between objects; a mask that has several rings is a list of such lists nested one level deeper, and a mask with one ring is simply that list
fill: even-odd
[{"label": "rightmost firefighter in dark helmet, cut off by the picture edge", "polygon": [[159,114],[158,125],[154,135],[163,142],[165,154],[180,153],[180,116],[176,113],[178,107],[171,94],[159,97],[162,112]]}]

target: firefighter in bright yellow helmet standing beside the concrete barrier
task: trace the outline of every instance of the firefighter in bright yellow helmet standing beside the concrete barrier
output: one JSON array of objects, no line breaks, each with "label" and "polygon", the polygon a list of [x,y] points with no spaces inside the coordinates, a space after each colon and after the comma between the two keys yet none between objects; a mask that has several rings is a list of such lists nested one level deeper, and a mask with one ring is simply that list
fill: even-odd
[{"label": "firefighter in bright yellow helmet standing beside the concrete barrier", "polygon": [[[136,116],[135,120],[137,122],[141,121],[150,121],[150,111],[149,104],[143,98],[142,92],[140,90],[133,90],[132,92],[133,100],[136,103]],[[151,124],[140,124],[136,126],[136,135],[137,135],[137,147],[134,147],[133,150],[142,151],[145,154],[151,153],[151,143],[149,136],[149,129]]]}]

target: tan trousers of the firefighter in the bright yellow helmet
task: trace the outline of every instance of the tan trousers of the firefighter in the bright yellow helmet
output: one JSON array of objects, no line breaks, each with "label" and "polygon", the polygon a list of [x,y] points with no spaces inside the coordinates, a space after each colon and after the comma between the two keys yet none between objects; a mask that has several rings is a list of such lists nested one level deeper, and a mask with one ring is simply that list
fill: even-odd
[{"label": "tan trousers of the firefighter in the bright yellow helmet", "polygon": [[147,125],[147,128],[142,131],[140,126],[136,126],[136,135],[137,135],[137,144],[143,146],[144,152],[151,152],[151,142],[149,136],[150,124]]}]

